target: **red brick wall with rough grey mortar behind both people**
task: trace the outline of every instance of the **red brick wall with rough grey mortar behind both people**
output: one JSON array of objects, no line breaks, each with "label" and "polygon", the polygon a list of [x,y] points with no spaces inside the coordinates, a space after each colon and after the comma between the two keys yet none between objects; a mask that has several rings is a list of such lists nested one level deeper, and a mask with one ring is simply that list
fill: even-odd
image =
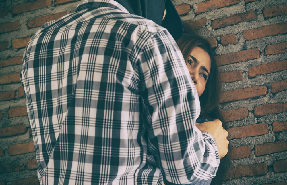
[{"label": "red brick wall with rough grey mortar behind both people", "polygon": [[[0,0],[0,184],[38,184],[22,54],[45,22],[74,0]],[[224,184],[287,183],[286,0],[174,0],[215,47],[232,167]]]}]

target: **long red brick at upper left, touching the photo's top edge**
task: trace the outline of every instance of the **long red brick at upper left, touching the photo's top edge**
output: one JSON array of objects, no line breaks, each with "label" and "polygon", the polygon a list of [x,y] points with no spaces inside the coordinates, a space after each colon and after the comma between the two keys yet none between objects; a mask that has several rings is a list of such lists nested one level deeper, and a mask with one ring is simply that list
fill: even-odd
[{"label": "long red brick at upper left, touching the photo's top edge", "polygon": [[51,5],[51,0],[37,0],[12,6],[12,14],[30,12],[32,10],[44,8]]}]

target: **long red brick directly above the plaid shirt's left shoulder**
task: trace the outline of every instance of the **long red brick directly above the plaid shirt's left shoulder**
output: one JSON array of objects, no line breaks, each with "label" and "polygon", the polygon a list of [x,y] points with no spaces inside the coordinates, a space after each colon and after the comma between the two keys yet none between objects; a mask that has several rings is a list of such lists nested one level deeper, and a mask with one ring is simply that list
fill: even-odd
[{"label": "long red brick directly above the plaid shirt's left shoulder", "polygon": [[48,16],[42,16],[42,17],[37,17],[35,19],[29,20],[27,23],[28,28],[36,28],[40,27],[46,22],[50,22],[52,20],[57,20],[63,16],[67,15],[67,13],[62,12],[54,15],[48,15]]}]

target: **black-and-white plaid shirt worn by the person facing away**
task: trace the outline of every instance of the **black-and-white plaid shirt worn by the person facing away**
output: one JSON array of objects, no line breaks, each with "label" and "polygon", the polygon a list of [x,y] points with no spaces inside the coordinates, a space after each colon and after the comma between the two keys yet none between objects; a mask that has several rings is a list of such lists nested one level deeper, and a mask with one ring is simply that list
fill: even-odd
[{"label": "black-and-white plaid shirt worn by the person facing away", "polygon": [[41,184],[183,184],[215,176],[196,89],[165,28],[84,0],[28,43],[21,80]]}]

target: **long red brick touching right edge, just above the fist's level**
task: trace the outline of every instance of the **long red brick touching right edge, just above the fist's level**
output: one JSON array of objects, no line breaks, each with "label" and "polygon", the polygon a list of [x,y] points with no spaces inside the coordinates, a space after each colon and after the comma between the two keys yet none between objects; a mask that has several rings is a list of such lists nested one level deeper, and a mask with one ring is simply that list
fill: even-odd
[{"label": "long red brick touching right edge, just above the fist's level", "polygon": [[287,111],[287,103],[270,103],[258,105],[254,108],[254,116],[260,117],[269,114],[278,114]]}]

